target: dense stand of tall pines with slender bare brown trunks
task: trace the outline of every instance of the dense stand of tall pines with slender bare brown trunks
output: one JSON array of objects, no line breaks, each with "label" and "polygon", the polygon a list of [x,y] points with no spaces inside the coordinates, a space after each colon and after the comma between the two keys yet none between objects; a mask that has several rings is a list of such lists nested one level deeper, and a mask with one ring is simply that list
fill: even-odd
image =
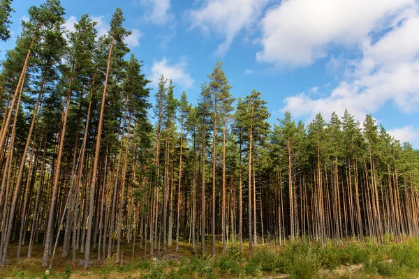
[{"label": "dense stand of tall pines with slender bare brown trunks", "polygon": [[[8,40],[12,1],[0,3]],[[1,266],[41,244],[43,266],[89,266],[92,252],[121,259],[122,243],[215,254],[233,239],[251,252],[419,235],[419,152],[371,115],[307,125],[286,112],[271,126],[262,93],[233,98],[221,62],[198,100],[163,75],[151,89],[119,8],[101,37],[89,15],[66,31],[58,0],[28,13],[0,74]]]}]

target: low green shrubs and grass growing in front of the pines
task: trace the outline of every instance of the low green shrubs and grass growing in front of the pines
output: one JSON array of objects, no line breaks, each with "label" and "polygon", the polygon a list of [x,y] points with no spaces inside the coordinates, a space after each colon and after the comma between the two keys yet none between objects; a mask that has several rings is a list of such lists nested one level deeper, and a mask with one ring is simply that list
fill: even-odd
[{"label": "low green shrubs and grass growing in front of the pines", "polygon": [[[387,236],[388,237],[388,236]],[[370,239],[364,243],[350,241],[343,246],[335,242],[313,243],[307,239],[287,241],[284,246],[258,246],[248,255],[240,249],[237,239],[232,239],[221,255],[196,253],[179,259],[135,259],[119,265],[111,257],[103,266],[94,266],[89,273],[101,278],[111,278],[113,272],[133,272],[140,278],[244,278],[286,273],[290,278],[409,278],[419,270],[419,240],[408,239],[395,243],[391,239],[377,244]],[[335,275],[341,266],[359,266],[355,274]],[[358,270],[357,269],[357,270]],[[63,273],[32,274],[22,268],[15,268],[9,278],[70,278],[73,271],[69,266]],[[79,271],[80,273],[80,271]],[[82,273],[80,273],[82,274]],[[82,274],[83,275],[83,274]]]}]

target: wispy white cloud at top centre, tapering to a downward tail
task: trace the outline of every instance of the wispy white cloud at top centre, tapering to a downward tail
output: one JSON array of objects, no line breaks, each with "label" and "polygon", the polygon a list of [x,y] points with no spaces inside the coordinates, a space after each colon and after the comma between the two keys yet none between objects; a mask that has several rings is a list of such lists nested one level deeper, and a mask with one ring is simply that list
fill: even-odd
[{"label": "wispy white cloud at top centre, tapering to a downward tail", "polygon": [[228,52],[237,33],[249,29],[259,19],[268,0],[206,0],[202,6],[189,11],[191,29],[201,29],[210,34],[215,31],[226,39],[216,54]]}]

